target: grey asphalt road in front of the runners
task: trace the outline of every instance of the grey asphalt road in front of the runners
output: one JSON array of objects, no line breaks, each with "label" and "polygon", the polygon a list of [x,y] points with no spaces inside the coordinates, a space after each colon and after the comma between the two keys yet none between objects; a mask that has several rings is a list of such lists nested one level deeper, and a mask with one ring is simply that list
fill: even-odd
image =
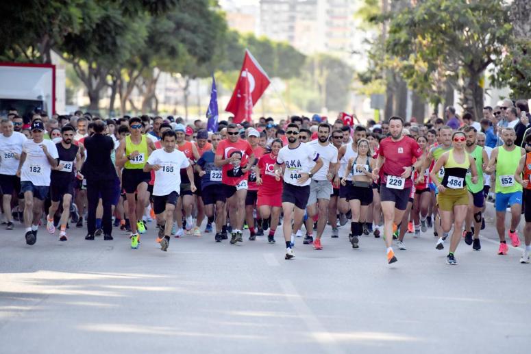
[{"label": "grey asphalt road in front of the runners", "polygon": [[148,225],[138,250],[125,233],[59,242],[40,229],[0,231],[0,353],[528,353],[531,264],[521,249],[496,255],[461,242],[458,266],[432,230],[406,236],[388,266],[382,239],[351,249],[297,239],[294,260],[267,237],[230,245],[214,236],[172,239]]}]

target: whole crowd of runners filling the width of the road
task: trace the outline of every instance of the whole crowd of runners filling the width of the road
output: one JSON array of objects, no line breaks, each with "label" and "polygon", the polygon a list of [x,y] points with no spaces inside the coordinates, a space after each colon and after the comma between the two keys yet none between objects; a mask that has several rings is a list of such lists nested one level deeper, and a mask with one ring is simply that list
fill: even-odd
[{"label": "whole crowd of runners filling the width of the road", "polygon": [[332,238],[348,236],[354,249],[362,235],[382,237],[390,264],[397,262],[393,240],[406,250],[406,235],[432,229],[434,248],[447,247],[447,264],[457,264],[461,238],[481,249],[489,200],[498,254],[509,251],[510,210],[508,239],[520,245],[524,214],[520,262],[530,263],[528,103],[505,99],[483,115],[477,122],[448,107],[445,118],[434,114],[428,123],[391,116],[353,126],[292,116],[220,121],[207,131],[203,121],[186,125],[173,116],[21,117],[12,110],[1,119],[2,225],[22,224],[28,245],[40,225],[58,229],[60,241],[72,227],[86,227],[86,240],[113,240],[119,228],[132,249],[151,232],[162,251],[185,235],[237,244],[244,233],[251,242],[267,234],[269,243],[283,237],[286,260],[299,237],[323,249],[330,225]]}]

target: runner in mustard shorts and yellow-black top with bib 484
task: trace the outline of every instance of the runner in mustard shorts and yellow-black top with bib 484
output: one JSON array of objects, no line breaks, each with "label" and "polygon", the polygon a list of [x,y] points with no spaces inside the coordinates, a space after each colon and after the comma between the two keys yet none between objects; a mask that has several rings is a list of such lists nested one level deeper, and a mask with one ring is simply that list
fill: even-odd
[{"label": "runner in mustard shorts and yellow-black top with bib 484", "polygon": [[[453,265],[457,264],[454,252],[461,240],[462,227],[469,205],[465,177],[470,170],[472,183],[477,183],[478,170],[476,170],[476,163],[473,157],[465,151],[465,133],[456,131],[452,135],[452,140],[454,147],[439,157],[430,173],[430,177],[432,177],[432,181],[434,181],[439,190],[437,204],[439,204],[443,231],[445,233],[449,232],[452,229],[452,222],[454,223],[454,232],[450,240],[450,252],[446,257],[447,264]],[[443,166],[445,175],[443,181],[439,182],[436,175]],[[443,242],[443,238],[439,238],[436,249],[444,249]]]}]

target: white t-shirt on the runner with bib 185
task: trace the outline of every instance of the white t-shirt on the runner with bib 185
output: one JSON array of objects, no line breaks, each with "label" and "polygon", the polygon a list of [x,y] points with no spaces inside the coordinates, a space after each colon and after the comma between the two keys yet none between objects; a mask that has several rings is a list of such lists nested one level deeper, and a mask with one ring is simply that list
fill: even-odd
[{"label": "white t-shirt on the runner with bib 185", "polygon": [[164,196],[173,191],[181,192],[181,168],[190,166],[184,153],[177,149],[173,153],[166,153],[164,149],[156,149],[149,155],[147,163],[161,166],[155,171],[153,195]]}]

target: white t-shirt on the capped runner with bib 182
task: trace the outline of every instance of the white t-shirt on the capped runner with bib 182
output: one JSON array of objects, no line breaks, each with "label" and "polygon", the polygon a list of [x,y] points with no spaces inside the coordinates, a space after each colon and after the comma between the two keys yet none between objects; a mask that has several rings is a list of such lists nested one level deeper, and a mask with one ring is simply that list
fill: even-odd
[{"label": "white t-shirt on the capped runner with bib 182", "polygon": [[26,160],[21,170],[21,181],[30,181],[34,186],[49,187],[51,166],[45,152],[42,151],[42,145],[45,145],[51,157],[59,158],[57,147],[51,140],[42,140],[38,144],[33,140],[26,140],[22,147],[22,151],[26,153]]}]

